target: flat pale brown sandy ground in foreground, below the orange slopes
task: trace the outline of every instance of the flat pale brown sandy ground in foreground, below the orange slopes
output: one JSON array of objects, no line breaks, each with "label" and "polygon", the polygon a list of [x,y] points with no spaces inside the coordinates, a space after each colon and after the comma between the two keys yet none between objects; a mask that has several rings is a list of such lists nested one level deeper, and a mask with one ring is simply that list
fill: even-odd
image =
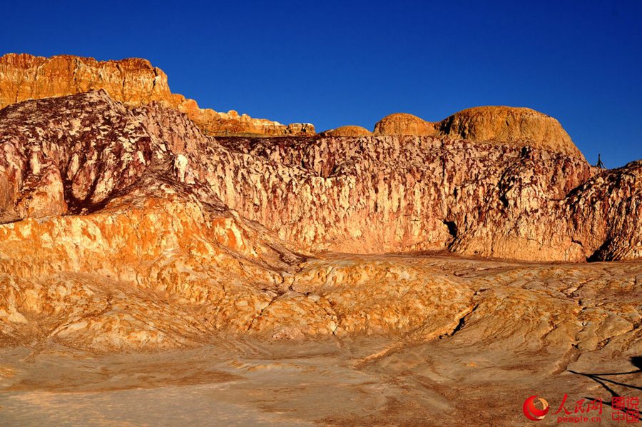
[{"label": "flat pale brown sandy ground in foreground, below the orange slopes", "polygon": [[[30,356],[14,348],[1,353],[0,419],[13,426],[521,426],[531,422],[521,406],[532,394],[546,396],[552,411],[564,393],[569,402],[611,398],[591,378],[540,369],[547,363],[541,356],[469,353],[453,344],[235,341],[117,356],[67,350]],[[390,346],[397,351],[363,362]],[[621,358],[596,369],[635,367]],[[642,385],[639,373],[617,379]],[[639,396],[639,390],[613,388]],[[572,404],[567,408],[574,411]],[[610,416],[605,406],[604,425]],[[541,424],[556,423],[547,418]]]}]

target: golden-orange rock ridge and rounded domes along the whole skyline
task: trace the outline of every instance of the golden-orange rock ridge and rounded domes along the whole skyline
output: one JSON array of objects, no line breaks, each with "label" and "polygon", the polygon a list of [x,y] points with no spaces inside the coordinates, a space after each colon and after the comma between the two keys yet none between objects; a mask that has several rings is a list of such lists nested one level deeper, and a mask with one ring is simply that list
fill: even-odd
[{"label": "golden-orange rock ridge and rounded domes along the whole skyline", "polygon": [[[287,126],[253,119],[230,110],[200,109],[193,99],[172,94],[167,75],[146,59],[96,61],[61,55],[44,58],[29,54],[0,57],[0,108],[28,99],[67,96],[105,90],[112,99],[137,107],[158,102],[186,114],[203,133],[213,136],[312,136],[312,124]],[[340,126],[324,136],[368,136],[361,126]],[[482,106],[430,122],[412,114],[390,114],[374,126],[374,134],[437,136],[488,144],[521,144],[584,159],[558,121],[526,108]]]}]

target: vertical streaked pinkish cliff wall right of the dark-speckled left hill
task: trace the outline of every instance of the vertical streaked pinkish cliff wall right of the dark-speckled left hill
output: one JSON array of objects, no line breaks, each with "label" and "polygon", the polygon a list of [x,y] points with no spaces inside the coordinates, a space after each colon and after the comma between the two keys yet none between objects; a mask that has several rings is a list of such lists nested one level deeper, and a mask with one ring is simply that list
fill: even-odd
[{"label": "vertical streaked pinkish cliff wall right of the dark-speckled left hill", "polygon": [[224,203],[308,250],[583,261],[617,239],[627,255],[601,258],[641,254],[641,162],[596,175],[549,151],[434,137],[217,141],[280,165],[257,174],[259,188],[208,174]]}]

